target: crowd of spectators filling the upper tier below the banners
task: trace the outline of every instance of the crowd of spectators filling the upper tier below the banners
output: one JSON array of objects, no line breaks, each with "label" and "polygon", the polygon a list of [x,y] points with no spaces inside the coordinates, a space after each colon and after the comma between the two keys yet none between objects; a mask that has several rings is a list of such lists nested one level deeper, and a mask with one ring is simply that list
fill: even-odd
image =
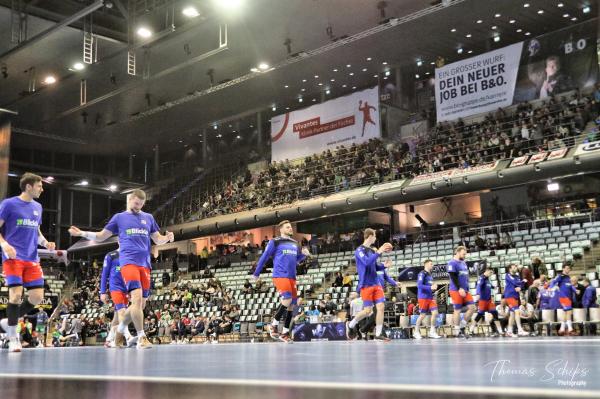
[{"label": "crowd of spectators filling the upper tier below the banners", "polygon": [[[163,223],[230,214],[292,203],[371,183],[405,179],[441,170],[469,168],[501,159],[574,144],[599,114],[600,89],[590,96],[576,92],[534,107],[519,104],[498,109],[477,121],[442,122],[412,141],[384,143],[373,139],[339,146],[303,160],[273,162],[249,170],[206,190],[183,209],[167,208]],[[588,140],[598,138],[597,130]]]}]

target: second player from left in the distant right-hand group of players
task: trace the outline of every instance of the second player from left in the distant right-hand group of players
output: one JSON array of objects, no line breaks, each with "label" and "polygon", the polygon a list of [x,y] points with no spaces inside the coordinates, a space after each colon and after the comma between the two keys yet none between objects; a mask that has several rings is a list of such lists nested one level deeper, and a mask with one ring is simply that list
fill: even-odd
[{"label": "second player from left in the distant right-hand group of players", "polygon": [[[466,338],[465,327],[475,313],[475,302],[469,292],[469,268],[465,262],[467,249],[463,246],[456,247],[454,258],[448,262],[448,275],[450,276],[450,297],[454,305],[452,317],[454,333],[460,338]],[[460,313],[467,308],[463,321],[460,321]]]}]

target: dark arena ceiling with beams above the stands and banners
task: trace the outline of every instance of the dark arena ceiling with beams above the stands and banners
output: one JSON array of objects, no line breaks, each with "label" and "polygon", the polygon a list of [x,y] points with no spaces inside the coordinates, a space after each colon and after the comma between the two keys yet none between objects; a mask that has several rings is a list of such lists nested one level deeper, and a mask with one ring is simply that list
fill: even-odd
[{"label": "dark arena ceiling with beams above the stands and banners", "polygon": [[[390,66],[414,68],[426,76],[433,72],[430,63],[437,56],[456,61],[470,56],[469,52],[478,54],[524,40],[526,32],[543,34],[598,13],[596,0],[456,0],[449,7],[433,8],[429,8],[431,0],[238,1],[240,8],[227,11],[214,1],[112,1],[111,8],[102,7],[92,14],[93,31],[99,35],[98,59],[80,72],[68,68],[81,61],[83,20],[7,58],[0,55],[0,65],[6,65],[8,74],[0,76],[0,107],[19,112],[14,125],[86,144],[23,134],[15,134],[13,142],[39,148],[42,141],[97,154],[148,154],[155,143],[168,148],[192,137],[198,141],[201,137],[196,133],[202,127],[250,110],[277,104],[279,113],[286,106],[298,106],[299,96],[305,103],[319,101],[325,88],[331,90],[330,97],[336,97],[353,87],[373,86],[381,78],[374,75]],[[91,3],[23,0],[24,11],[30,15],[28,37]],[[181,15],[190,3],[200,10],[199,17]],[[378,8],[380,3],[386,3],[385,15]],[[530,6],[525,8],[524,3]],[[0,7],[0,54],[15,46],[11,44],[10,4],[10,0],[0,0],[5,6]],[[591,5],[592,12],[584,14],[584,5]],[[398,18],[394,26],[380,24],[392,17]],[[228,44],[215,51],[222,23],[228,27]],[[137,55],[137,75],[129,76],[128,26],[131,32],[140,24],[162,33],[146,45],[129,35]],[[499,43],[491,40],[494,33],[501,35]],[[467,34],[472,36],[467,38]],[[339,39],[345,35],[349,38]],[[288,38],[292,54],[306,51],[308,55],[290,57],[284,45]],[[462,55],[456,53],[458,47],[465,49]],[[214,54],[202,57],[210,51]],[[417,59],[424,65],[417,67]],[[273,70],[251,73],[261,61],[274,66]],[[213,84],[207,75],[211,69]],[[41,82],[48,74],[58,82],[44,86]],[[36,91],[27,93],[31,78]],[[83,106],[81,79],[87,81]],[[225,80],[232,81],[219,85]]]}]

